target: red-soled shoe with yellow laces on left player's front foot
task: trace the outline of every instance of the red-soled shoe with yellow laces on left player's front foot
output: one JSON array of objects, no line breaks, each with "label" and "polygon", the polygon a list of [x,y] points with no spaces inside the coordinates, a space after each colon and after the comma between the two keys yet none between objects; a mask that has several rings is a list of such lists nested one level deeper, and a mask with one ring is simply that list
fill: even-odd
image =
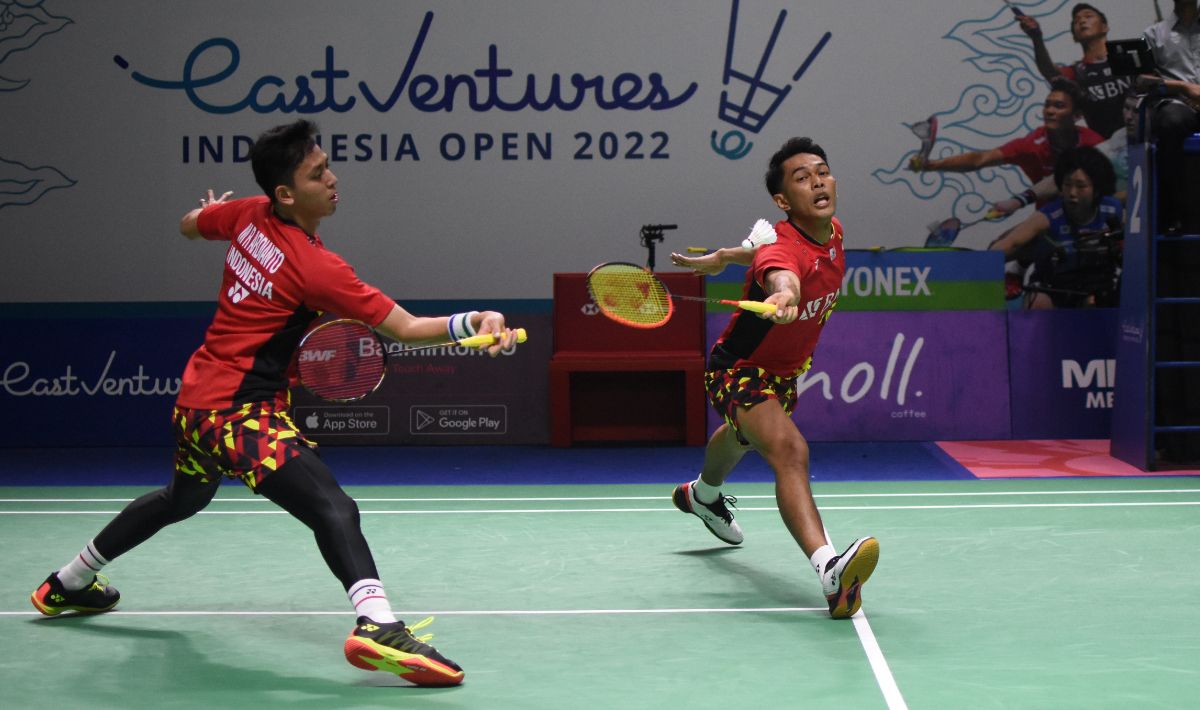
[{"label": "red-soled shoe with yellow laces on left player's front foot", "polygon": [[413,636],[432,621],[430,616],[409,628],[403,621],[383,624],[359,616],[358,626],[346,639],[346,660],[364,670],[395,673],[414,685],[458,685],[462,668],[426,643],[433,634]]}]

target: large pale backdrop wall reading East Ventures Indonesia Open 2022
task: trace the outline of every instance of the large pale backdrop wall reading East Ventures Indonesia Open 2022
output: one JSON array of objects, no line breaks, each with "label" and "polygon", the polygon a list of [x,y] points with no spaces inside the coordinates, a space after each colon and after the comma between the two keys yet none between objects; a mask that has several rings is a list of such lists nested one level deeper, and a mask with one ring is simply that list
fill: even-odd
[{"label": "large pale backdrop wall reading East Ventures Indonesia Open 2022", "polygon": [[[1051,56],[1079,56],[1070,2],[1021,7]],[[1145,4],[1104,10],[1114,37],[1152,22]],[[208,188],[259,193],[251,142],[298,118],[319,125],[338,178],[323,240],[402,301],[547,299],[550,273],[641,263],[644,224],[678,224],[662,263],[736,245],[776,218],[762,174],[796,134],[827,149],[851,243],[919,246],[930,222],[968,223],[1027,185],[1012,167],[913,173],[912,127],[940,118],[934,157],[995,148],[1039,126],[1046,89],[997,0],[38,0],[4,14],[0,174],[19,188],[0,193],[2,302],[211,300],[224,247],[179,237],[179,217]]]}]

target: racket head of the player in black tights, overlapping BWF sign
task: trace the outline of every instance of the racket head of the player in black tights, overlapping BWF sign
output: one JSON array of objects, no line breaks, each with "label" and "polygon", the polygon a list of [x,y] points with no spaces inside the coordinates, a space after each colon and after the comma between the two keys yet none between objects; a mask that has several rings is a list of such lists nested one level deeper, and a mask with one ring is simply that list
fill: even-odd
[{"label": "racket head of the player in black tights, overlapping BWF sign", "polygon": [[296,347],[300,384],[326,402],[355,402],[379,389],[388,355],[374,330],[340,318],[308,331]]}]

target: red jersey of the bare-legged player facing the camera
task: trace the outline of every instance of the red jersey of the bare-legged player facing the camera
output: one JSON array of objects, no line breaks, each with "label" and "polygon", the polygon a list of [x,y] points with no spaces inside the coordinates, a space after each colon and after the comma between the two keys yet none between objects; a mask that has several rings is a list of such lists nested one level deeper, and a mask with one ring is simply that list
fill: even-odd
[{"label": "red jersey of the bare-legged player facing the camera", "polygon": [[727,367],[760,367],[791,378],[811,365],[821,329],[841,291],[846,253],[841,222],[836,217],[833,219],[833,236],[826,243],[817,242],[787,219],[775,224],[775,233],[779,235],[775,243],[761,246],[755,252],[754,261],[746,270],[742,297],[763,300],[767,297],[762,285],[767,272],[785,269],[800,277],[800,317],[792,323],[779,324],[748,311],[737,311],[714,350],[720,348],[725,355],[737,357]]}]

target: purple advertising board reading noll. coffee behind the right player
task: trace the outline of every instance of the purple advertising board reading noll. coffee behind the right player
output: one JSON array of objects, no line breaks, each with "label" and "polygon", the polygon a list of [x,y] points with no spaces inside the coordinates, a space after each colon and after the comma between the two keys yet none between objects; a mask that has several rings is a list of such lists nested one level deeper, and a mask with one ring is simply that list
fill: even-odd
[{"label": "purple advertising board reading noll. coffee behind the right player", "polygon": [[[727,321],[708,315],[710,342]],[[1004,313],[835,312],[798,389],[792,419],[814,441],[1007,439]]]}]

